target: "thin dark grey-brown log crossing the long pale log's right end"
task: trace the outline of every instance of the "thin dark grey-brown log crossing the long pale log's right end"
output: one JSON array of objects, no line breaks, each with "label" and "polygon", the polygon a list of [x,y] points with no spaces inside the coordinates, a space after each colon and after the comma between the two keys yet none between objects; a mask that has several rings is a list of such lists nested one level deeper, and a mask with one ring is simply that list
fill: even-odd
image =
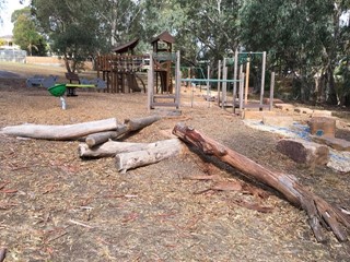
[{"label": "thin dark grey-brown log crossing the long pale log's right end", "polygon": [[148,127],[160,119],[161,119],[160,116],[149,116],[144,118],[126,119],[124,121],[124,124],[119,124],[116,131],[90,134],[86,136],[85,142],[89,145],[89,147],[93,147],[95,145],[107,142],[109,139],[115,140],[125,133],[143,129],[144,127]]}]

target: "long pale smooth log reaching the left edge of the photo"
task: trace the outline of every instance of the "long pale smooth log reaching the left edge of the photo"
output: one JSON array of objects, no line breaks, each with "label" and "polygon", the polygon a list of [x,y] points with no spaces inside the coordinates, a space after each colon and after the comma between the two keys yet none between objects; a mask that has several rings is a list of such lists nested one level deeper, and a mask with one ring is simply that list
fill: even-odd
[{"label": "long pale smooth log reaching the left edge of the photo", "polygon": [[43,140],[77,140],[81,136],[117,129],[115,118],[66,126],[20,124],[3,128],[0,133]]}]

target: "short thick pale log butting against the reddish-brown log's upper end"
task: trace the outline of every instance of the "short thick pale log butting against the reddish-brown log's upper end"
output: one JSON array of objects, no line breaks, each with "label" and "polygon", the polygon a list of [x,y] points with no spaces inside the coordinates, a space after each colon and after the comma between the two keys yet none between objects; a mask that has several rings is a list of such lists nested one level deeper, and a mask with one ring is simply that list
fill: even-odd
[{"label": "short thick pale log butting against the reddish-brown log's upper end", "polygon": [[178,139],[163,140],[147,144],[144,150],[119,153],[116,155],[116,168],[126,172],[140,166],[147,166],[160,160],[179,155],[182,143]]}]

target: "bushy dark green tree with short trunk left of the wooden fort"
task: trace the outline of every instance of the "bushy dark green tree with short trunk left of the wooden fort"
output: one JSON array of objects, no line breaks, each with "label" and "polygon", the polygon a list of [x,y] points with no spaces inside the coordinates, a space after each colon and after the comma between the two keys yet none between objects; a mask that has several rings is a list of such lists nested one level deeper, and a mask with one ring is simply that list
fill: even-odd
[{"label": "bushy dark green tree with short trunk left of the wooden fort", "polygon": [[51,50],[65,59],[69,72],[100,49],[100,23],[86,1],[33,0],[33,12],[50,39]]}]

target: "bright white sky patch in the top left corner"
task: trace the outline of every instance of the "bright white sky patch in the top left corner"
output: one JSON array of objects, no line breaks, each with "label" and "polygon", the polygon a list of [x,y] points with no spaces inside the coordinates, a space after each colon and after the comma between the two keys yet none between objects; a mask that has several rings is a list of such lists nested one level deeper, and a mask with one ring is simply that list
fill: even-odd
[{"label": "bright white sky patch in the top left corner", "polygon": [[20,3],[20,0],[7,0],[4,7],[0,11],[2,17],[2,24],[0,24],[0,36],[12,35],[13,24],[11,23],[11,14],[14,10],[23,9],[30,4],[30,0],[23,1],[24,4]]}]

